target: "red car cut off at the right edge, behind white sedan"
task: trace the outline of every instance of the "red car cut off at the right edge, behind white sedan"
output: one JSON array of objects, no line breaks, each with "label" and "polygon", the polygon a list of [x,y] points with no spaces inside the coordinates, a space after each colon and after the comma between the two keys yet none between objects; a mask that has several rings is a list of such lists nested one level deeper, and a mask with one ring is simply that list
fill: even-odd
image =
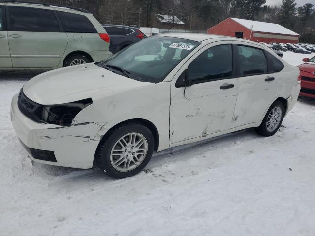
[{"label": "red car cut off at the right edge, behind white sedan", "polygon": [[304,58],[303,62],[298,66],[302,75],[300,96],[315,98],[315,57]]}]

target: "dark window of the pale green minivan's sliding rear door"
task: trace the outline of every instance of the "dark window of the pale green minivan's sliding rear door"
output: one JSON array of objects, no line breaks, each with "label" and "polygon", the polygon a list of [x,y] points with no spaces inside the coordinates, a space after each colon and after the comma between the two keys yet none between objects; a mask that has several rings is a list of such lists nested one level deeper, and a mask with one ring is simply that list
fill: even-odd
[{"label": "dark window of the pale green minivan's sliding rear door", "polygon": [[9,7],[8,31],[60,32],[58,20],[52,10],[31,7]]}]

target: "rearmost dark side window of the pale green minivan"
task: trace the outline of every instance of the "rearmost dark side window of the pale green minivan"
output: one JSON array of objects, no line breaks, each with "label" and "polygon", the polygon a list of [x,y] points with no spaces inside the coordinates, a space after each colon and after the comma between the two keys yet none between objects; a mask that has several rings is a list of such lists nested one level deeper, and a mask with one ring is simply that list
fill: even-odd
[{"label": "rearmost dark side window of the pale green minivan", "polygon": [[84,15],[56,11],[67,33],[97,33],[91,21]]}]

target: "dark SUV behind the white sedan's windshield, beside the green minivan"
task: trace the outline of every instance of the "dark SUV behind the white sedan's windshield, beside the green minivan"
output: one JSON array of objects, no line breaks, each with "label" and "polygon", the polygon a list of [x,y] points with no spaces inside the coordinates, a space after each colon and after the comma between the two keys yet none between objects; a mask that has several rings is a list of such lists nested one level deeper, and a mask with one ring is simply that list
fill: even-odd
[{"label": "dark SUV behind the white sedan's windshield, beside the green minivan", "polygon": [[121,25],[102,25],[110,37],[109,51],[113,54],[145,38],[139,29]]}]

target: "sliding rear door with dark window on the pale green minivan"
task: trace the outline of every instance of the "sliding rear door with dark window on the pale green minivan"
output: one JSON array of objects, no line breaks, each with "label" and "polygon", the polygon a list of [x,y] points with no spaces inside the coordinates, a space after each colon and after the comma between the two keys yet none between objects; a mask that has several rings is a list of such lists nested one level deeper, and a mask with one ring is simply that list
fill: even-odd
[{"label": "sliding rear door with dark window on the pale green minivan", "polygon": [[7,6],[9,47],[14,68],[53,68],[68,37],[54,10]]}]

